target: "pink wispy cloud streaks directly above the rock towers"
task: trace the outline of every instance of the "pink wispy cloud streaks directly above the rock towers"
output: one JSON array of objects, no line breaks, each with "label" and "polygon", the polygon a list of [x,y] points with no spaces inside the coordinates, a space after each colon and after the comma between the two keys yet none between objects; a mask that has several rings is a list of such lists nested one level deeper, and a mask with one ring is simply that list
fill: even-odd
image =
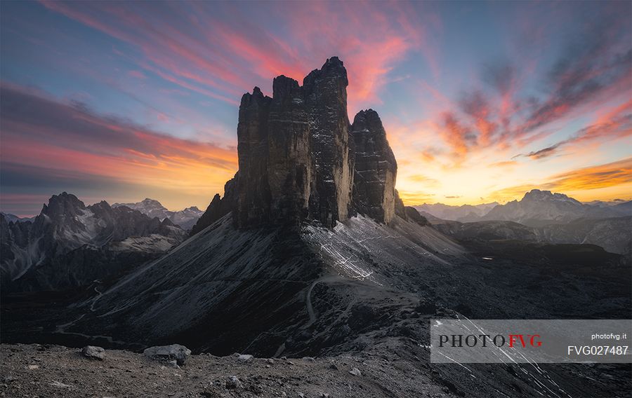
[{"label": "pink wispy cloud streaks directly above the rock towers", "polygon": [[[239,4],[42,4],[140,49],[144,57],[136,62],[145,71],[231,104],[242,92],[279,74],[300,81],[331,55],[348,60],[355,110],[381,102],[378,92],[386,76],[412,50],[426,55],[438,70],[426,26],[439,31],[440,22],[432,13],[402,3],[271,4],[284,15],[276,32],[245,17],[235,9]],[[167,15],[169,24],[164,24]]]}]

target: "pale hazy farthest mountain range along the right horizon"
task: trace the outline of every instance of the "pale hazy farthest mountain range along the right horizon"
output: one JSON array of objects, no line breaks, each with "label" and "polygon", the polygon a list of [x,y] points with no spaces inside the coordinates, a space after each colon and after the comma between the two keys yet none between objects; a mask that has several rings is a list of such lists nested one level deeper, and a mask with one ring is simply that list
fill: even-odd
[{"label": "pale hazy farthest mountain range along the right horizon", "polygon": [[[513,200],[505,205],[486,203],[484,205],[449,206],[436,203],[434,205],[419,205],[415,208],[420,212],[443,220],[460,222],[515,221],[532,227],[566,224],[577,219],[632,216],[632,201],[581,203],[563,193],[551,193],[551,191],[539,189],[533,189],[525,193],[521,200]],[[431,217],[428,217],[428,220],[433,222]]]}]

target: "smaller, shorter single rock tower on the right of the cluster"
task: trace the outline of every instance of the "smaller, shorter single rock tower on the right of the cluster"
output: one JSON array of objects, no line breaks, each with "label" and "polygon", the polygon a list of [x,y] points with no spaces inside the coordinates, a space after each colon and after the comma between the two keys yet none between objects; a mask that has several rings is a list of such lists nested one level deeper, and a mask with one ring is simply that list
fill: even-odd
[{"label": "smaller, shorter single rock tower on the right of the cluster", "polygon": [[395,217],[397,161],[377,112],[369,109],[355,115],[351,135],[355,151],[355,210],[388,223]]}]

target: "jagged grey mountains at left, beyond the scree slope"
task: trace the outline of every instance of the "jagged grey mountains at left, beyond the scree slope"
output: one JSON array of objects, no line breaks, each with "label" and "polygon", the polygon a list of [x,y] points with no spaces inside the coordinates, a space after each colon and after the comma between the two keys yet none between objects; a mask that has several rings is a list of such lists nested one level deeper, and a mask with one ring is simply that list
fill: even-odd
[{"label": "jagged grey mountains at left, beyond the scree slope", "polygon": [[0,232],[2,287],[18,290],[62,289],[107,277],[186,237],[169,219],[105,201],[86,206],[65,192],[53,195],[32,221],[1,214]]}]

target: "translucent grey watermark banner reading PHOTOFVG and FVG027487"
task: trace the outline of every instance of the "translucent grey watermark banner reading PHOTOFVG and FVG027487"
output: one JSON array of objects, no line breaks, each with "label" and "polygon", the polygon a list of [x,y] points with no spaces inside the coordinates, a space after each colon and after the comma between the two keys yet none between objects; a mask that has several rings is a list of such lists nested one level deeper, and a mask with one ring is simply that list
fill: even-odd
[{"label": "translucent grey watermark banner reading PHOTOFVG and FVG027487", "polygon": [[632,362],[632,320],[430,321],[430,362]]}]

